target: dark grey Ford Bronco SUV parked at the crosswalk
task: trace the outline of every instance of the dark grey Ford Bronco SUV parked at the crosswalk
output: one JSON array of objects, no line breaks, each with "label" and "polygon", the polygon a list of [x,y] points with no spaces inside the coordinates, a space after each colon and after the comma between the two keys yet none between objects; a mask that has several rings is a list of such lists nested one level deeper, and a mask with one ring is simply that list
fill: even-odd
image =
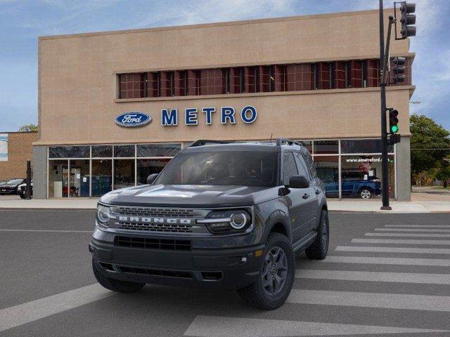
[{"label": "dark grey Ford Bronco SUV parked at the crosswalk", "polygon": [[147,183],[98,201],[89,251],[107,289],[236,290],[272,310],[292,289],[295,253],[328,252],[325,190],[302,143],[198,140]]}]

